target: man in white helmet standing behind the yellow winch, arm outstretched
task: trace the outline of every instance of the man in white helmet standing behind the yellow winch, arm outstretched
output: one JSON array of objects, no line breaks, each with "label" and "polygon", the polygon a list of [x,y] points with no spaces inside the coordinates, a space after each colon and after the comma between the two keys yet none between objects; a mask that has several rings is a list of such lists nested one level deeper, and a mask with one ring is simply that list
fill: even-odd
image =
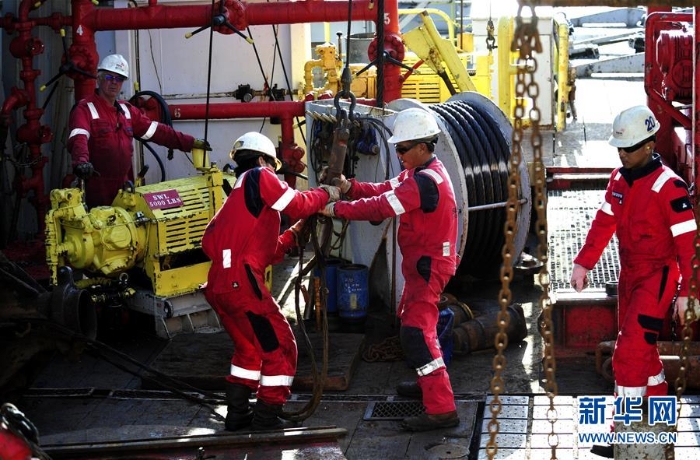
[{"label": "man in white helmet standing behind the yellow winch, arm outstretched", "polygon": [[112,204],[124,183],[134,179],[134,136],[183,152],[209,149],[206,141],[151,121],[140,109],[118,100],[128,78],[123,56],[105,57],[97,68],[94,94],[78,101],[70,113],[67,148],[74,174],[85,180],[88,207]]}]

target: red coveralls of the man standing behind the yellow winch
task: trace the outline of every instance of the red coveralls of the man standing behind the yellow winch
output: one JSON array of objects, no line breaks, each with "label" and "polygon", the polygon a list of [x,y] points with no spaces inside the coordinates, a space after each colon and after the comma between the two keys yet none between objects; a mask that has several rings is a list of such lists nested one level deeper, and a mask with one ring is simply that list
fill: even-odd
[{"label": "red coveralls of the man standing behind the yellow winch", "polygon": [[100,173],[85,183],[88,207],[112,204],[124,182],[133,180],[134,136],[183,152],[191,151],[194,142],[188,134],[151,121],[126,101],[110,105],[97,92],[73,107],[68,129],[72,165],[89,161]]}]

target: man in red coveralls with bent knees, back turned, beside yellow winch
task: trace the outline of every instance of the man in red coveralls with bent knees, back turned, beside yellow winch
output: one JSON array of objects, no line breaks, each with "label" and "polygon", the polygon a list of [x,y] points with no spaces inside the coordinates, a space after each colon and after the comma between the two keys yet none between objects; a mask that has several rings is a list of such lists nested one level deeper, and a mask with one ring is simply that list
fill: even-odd
[{"label": "man in red coveralls with bent knees, back turned, beside yellow winch", "polygon": [[[202,248],[212,261],[205,288],[233,340],[231,373],[226,377],[226,429],[284,428],[279,415],[291,393],[296,373],[294,333],[265,287],[268,265],[280,262],[299,244],[304,225],[297,221],[280,235],[280,213],[305,219],[338,199],[337,187],[300,192],[281,181],[275,146],[250,132],[233,144],[236,183],[207,226]],[[249,398],[257,392],[253,409]]]}]

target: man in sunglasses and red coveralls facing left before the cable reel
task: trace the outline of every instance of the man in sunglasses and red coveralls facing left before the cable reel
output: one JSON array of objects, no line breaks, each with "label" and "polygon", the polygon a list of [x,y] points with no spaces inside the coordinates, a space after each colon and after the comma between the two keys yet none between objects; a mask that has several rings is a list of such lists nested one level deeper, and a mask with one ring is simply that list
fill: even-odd
[{"label": "man in sunglasses and red coveralls facing left before the cable reel", "polygon": [[[383,183],[340,178],[341,191],[355,201],[328,204],[323,214],[348,220],[399,218],[398,245],[405,279],[397,315],[401,348],[415,368],[415,387],[425,413],[402,421],[408,431],[459,424],[454,393],[437,337],[438,301],[457,268],[457,204],[445,166],[434,155],[440,128],[421,108],[400,112],[389,142],[404,170]],[[401,385],[399,386],[401,393]]]}]

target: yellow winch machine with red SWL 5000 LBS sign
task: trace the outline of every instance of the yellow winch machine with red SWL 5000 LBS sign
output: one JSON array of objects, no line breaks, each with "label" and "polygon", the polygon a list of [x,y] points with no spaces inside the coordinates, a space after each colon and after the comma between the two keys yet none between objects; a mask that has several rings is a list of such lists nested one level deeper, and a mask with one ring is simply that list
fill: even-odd
[{"label": "yellow winch machine with red SWL 5000 LBS sign", "polygon": [[84,278],[75,284],[94,305],[152,315],[159,336],[219,327],[200,289],[211,264],[201,240],[233,177],[215,166],[197,169],[201,175],[125,185],[112,206],[89,211],[80,189],[53,190],[46,216],[51,284],[62,266],[81,270]]}]

